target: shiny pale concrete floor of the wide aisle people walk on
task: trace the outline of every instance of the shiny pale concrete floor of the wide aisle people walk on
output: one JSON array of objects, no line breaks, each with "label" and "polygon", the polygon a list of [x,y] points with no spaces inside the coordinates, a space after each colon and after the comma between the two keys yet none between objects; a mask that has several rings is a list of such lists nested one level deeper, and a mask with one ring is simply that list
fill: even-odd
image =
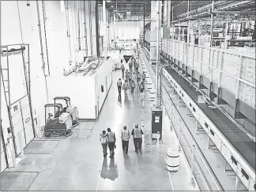
[{"label": "shiny pale concrete floor of the wide aisle people walk on", "polygon": [[[81,122],[69,138],[34,139],[17,167],[2,173],[1,190],[198,190],[197,184],[190,185],[190,168],[183,153],[178,172],[166,169],[167,149],[177,147],[168,126],[163,127],[164,143],[152,145],[148,95],[144,109],[139,106],[137,89],[134,95],[128,94],[128,99],[122,95],[122,101],[118,101],[115,85],[119,77],[120,70],[113,72],[111,90],[96,122]],[[121,129],[126,125],[131,131],[135,124],[141,124],[141,117],[145,124],[143,153],[134,152],[130,139],[129,152],[123,154]],[[114,160],[104,160],[99,141],[100,132],[107,127],[117,137]]]}]

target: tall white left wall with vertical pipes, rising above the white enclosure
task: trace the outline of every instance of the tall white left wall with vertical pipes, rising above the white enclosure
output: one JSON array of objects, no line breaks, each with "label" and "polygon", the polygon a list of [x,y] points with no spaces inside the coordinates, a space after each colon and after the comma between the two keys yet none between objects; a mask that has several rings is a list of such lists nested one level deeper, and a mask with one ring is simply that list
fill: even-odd
[{"label": "tall white left wall with vertical pipes, rising above the white enclosure", "polygon": [[[30,6],[27,6],[27,2]],[[48,60],[50,65],[51,76],[62,76],[63,69],[72,68],[76,65],[78,61],[77,54],[77,3],[74,1],[68,1],[68,16],[70,25],[66,24],[66,11],[65,6],[62,11],[60,1],[44,1],[45,3],[45,28],[46,36],[44,33],[43,25],[43,6],[42,1],[39,1],[40,6],[40,25],[42,28],[42,39],[43,39],[43,52],[44,52],[44,62],[46,64],[47,72],[47,53],[48,51]],[[95,16],[90,14],[90,11],[94,11],[94,2],[85,1],[80,2],[79,9],[83,11],[85,3],[85,15],[80,12],[80,30],[81,30],[81,44],[84,43],[84,46],[81,48],[81,56],[85,56],[85,46],[88,49],[88,56],[96,54],[96,33],[95,28]],[[89,8],[93,9],[89,9]],[[36,114],[40,119],[44,118],[44,109],[43,105],[47,102],[51,102],[51,99],[47,99],[47,89],[45,78],[43,75],[42,69],[42,57],[40,50],[40,33],[38,26],[38,16],[37,16],[37,7],[36,1],[2,1],[1,2],[1,17],[2,17],[2,30],[1,30],[1,39],[2,45],[7,44],[17,44],[17,43],[28,43],[30,47],[30,75],[31,75],[31,90],[32,90],[32,107],[36,110]],[[20,20],[21,19],[21,28]],[[93,20],[94,18],[94,20]],[[84,22],[85,21],[85,24]],[[89,24],[92,24],[92,31],[90,31]],[[84,26],[86,25],[86,39],[87,45],[85,44],[85,30]],[[70,29],[70,38],[67,37],[67,27]],[[84,34],[82,33],[84,31]],[[21,34],[22,32],[22,34]],[[91,36],[92,35],[92,36]],[[22,38],[21,38],[22,37]],[[47,46],[46,40],[47,39]],[[69,46],[70,39],[70,46]],[[92,39],[92,47],[90,47],[90,39]],[[46,49],[47,48],[47,49]],[[71,56],[69,54],[71,52]],[[12,59],[11,59],[12,60]],[[17,68],[17,62],[20,63],[21,60],[16,58],[13,61],[10,60],[10,72],[12,75],[11,83],[14,84],[11,90],[11,97],[14,100],[17,100],[21,97],[22,91],[21,88],[21,78],[18,77],[15,80],[13,76],[17,76],[21,69]],[[71,65],[70,65],[71,61]],[[13,68],[16,70],[13,71]],[[23,86],[23,84],[22,84]],[[16,92],[15,92],[16,91]],[[17,94],[18,93],[18,94]],[[3,97],[2,97],[3,98]],[[5,103],[5,102],[4,102]],[[40,120],[41,126],[43,125],[43,120]]]}]

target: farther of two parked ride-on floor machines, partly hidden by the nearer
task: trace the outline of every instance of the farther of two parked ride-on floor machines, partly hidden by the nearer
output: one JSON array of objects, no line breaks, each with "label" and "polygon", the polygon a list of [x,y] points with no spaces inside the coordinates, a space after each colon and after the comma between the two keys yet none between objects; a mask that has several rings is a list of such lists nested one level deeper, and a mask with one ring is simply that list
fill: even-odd
[{"label": "farther of two parked ride-on floor machines, partly hidden by the nearer", "polygon": [[64,113],[70,113],[72,120],[72,127],[75,127],[79,124],[78,111],[77,107],[70,106],[70,98],[69,97],[56,97],[54,98],[55,103],[56,100],[64,100],[66,102],[66,107],[63,108]]}]

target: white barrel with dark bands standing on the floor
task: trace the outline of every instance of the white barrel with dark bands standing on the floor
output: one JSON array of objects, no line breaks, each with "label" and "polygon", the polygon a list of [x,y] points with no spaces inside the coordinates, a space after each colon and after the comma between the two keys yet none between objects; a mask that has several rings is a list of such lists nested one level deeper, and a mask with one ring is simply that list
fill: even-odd
[{"label": "white barrel with dark bands standing on the floor", "polygon": [[166,167],[168,171],[175,172],[179,170],[179,151],[168,148]]}]

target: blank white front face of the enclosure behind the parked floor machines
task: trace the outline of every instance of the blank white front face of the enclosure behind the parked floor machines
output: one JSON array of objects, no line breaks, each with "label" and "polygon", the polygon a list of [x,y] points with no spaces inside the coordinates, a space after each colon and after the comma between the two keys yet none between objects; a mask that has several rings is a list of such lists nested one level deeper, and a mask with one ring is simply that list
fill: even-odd
[{"label": "blank white front face of the enclosure behind the parked floor machines", "polygon": [[47,83],[51,103],[54,103],[55,97],[70,97],[80,119],[96,119],[94,76],[49,76]]}]

